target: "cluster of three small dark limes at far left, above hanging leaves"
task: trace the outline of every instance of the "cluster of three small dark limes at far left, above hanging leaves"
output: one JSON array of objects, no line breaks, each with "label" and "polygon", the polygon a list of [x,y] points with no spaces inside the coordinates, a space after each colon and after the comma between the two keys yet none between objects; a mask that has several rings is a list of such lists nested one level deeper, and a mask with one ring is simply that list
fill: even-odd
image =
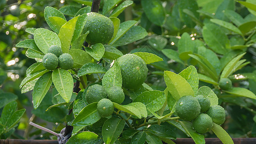
[{"label": "cluster of three small dark limes at far left, above hanging leaves", "polygon": [[48,53],[43,57],[43,66],[48,70],[55,70],[58,66],[61,69],[69,70],[73,67],[73,58],[69,53],[62,53],[58,46],[50,46]]}]

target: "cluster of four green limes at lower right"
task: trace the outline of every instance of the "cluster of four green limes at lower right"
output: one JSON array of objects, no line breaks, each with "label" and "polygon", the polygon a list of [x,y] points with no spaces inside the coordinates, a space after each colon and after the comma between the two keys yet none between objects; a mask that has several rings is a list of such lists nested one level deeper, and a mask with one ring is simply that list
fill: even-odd
[{"label": "cluster of four green limes at lower right", "polygon": [[224,108],[210,104],[206,96],[182,96],[177,101],[175,109],[182,120],[193,120],[196,132],[206,133],[213,127],[213,122],[219,125],[224,123],[226,116]]}]

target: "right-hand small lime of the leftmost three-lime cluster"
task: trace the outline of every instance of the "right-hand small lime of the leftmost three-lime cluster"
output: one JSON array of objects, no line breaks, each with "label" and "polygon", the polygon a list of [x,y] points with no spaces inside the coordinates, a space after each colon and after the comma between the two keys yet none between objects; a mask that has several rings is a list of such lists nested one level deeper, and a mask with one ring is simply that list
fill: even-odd
[{"label": "right-hand small lime of the leftmost three-lime cluster", "polygon": [[74,60],[69,53],[63,53],[59,57],[59,66],[61,67],[61,69],[69,70],[73,67],[73,64]]}]

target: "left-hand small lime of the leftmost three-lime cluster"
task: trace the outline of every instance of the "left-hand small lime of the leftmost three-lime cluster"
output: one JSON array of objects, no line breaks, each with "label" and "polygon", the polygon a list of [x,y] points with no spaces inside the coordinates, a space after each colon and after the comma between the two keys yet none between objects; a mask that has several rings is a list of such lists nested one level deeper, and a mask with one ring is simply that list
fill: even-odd
[{"label": "left-hand small lime of the leftmost three-lime cluster", "polygon": [[43,57],[43,66],[48,70],[55,70],[58,67],[59,60],[58,57],[52,53],[47,53]]}]

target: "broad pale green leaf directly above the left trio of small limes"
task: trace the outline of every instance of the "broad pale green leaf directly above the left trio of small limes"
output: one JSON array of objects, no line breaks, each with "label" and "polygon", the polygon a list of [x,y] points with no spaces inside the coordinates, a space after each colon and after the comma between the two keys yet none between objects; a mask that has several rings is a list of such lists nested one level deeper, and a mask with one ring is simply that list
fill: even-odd
[{"label": "broad pale green leaf directly above the left trio of small limes", "polygon": [[[50,46],[61,47],[61,40],[58,35],[48,29],[37,28],[34,34],[37,47],[46,54]],[[64,51],[63,51],[64,52]]]}]

